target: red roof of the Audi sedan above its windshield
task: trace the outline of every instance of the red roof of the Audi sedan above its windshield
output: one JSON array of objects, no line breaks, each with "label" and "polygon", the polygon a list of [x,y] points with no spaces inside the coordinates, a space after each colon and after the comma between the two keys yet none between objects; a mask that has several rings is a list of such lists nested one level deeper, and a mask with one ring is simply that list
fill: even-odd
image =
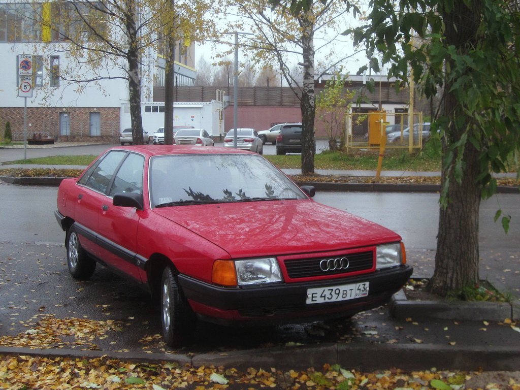
[{"label": "red roof of the Audi sedan above its windshield", "polygon": [[132,146],[115,146],[110,150],[126,150],[144,154],[145,157],[153,157],[155,155],[175,155],[175,154],[254,154],[249,150],[219,148],[214,146],[185,146],[185,145],[132,145]]}]

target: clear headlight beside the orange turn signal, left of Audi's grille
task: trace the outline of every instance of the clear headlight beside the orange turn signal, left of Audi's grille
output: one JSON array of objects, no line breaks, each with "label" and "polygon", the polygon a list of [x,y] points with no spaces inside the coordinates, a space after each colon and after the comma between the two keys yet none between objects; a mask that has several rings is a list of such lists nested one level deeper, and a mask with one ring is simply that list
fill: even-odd
[{"label": "clear headlight beside the orange turn signal, left of Audi's grille", "polygon": [[276,258],[253,258],[235,262],[239,285],[281,282],[282,274]]}]

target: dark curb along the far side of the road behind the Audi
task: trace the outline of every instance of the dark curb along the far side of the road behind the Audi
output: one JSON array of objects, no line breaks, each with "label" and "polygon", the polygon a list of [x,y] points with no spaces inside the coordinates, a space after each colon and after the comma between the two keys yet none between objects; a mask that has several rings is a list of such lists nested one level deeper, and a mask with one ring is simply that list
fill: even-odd
[{"label": "dark curb along the far side of the road behind the Audi", "polygon": [[[22,186],[59,186],[65,177],[13,177],[0,176],[0,180]],[[387,183],[322,183],[321,181],[296,181],[298,186],[313,186],[317,191],[355,192],[439,192],[439,184],[387,184]],[[520,188],[498,186],[497,193],[519,193]]]}]

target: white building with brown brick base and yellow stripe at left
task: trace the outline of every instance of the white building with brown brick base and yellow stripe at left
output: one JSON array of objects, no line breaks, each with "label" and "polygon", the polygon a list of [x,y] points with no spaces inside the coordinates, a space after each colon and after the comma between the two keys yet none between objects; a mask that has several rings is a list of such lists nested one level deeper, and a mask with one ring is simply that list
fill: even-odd
[{"label": "white building with brown brick base and yellow stripe at left", "polygon": [[[55,16],[55,4],[14,1],[0,4],[2,135],[9,121],[14,139],[23,139],[27,99],[28,138],[52,136],[60,141],[117,141],[122,107],[128,103],[128,85],[124,78],[127,64],[122,59],[107,57],[101,61],[102,66],[93,71],[63,51],[67,43],[63,43],[62,35],[45,24],[45,18]],[[63,9],[60,8],[60,12],[64,12]],[[73,22],[67,26],[68,33],[81,29],[81,22]],[[80,34],[86,32],[80,31]],[[32,88],[27,98],[19,97],[23,81],[20,69],[24,68],[20,54],[32,56],[29,58],[32,59],[29,72]],[[140,69],[142,102],[153,101],[153,87],[164,85],[164,64],[164,58],[153,45],[144,50]],[[193,85],[196,77],[193,64],[194,46],[178,43],[174,66],[176,85]],[[27,92],[21,94],[24,93]]]}]

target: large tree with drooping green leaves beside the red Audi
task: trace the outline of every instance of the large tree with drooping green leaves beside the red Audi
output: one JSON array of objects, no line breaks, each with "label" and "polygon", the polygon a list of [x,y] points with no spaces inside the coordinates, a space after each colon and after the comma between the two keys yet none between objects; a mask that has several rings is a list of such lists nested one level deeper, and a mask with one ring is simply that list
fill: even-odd
[{"label": "large tree with drooping green leaves beside the red Audi", "polygon": [[[478,281],[482,198],[496,192],[492,173],[508,170],[520,151],[520,12],[504,0],[372,0],[369,24],[355,41],[410,69],[426,97],[442,91],[436,123],[443,150],[435,272],[428,288],[460,291]],[[376,56],[370,66],[379,70]],[[502,217],[502,218],[501,218]],[[509,217],[497,212],[507,231]]]}]

